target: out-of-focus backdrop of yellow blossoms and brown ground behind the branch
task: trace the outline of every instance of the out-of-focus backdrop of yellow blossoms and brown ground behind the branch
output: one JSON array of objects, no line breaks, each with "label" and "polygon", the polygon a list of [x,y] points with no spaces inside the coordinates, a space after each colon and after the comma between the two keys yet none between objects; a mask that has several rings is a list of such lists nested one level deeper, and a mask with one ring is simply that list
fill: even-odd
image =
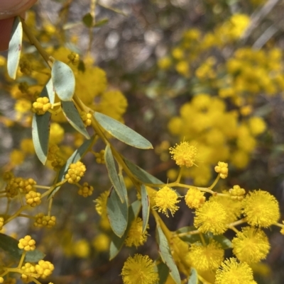
[{"label": "out-of-focus backdrop of yellow blossoms and brown ground behind the branch", "polygon": [[[185,183],[209,186],[214,166],[226,161],[229,177],[219,181],[216,190],[238,184],[246,191],[269,191],[280,203],[283,220],[283,1],[100,0],[94,13],[92,8],[89,0],[39,0],[26,23],[55,59],[68,62],[70,52],[80,55],[72,68],[84,103],[121,120],[154,147],[146,151],[114,142],[116,149],[166,182],[178,174],[168,148],[190,141],[200,156],[197,166],[185,171]],[[6,75],[5,52],[0,65],[2,172],[11,170],[48,186],[55,174],[50,164],[47,169],[35,157],[30,128],[31,102],[43,88],[48,69],[27,40],[16,81]],[[83,137],[53,116],[50,141],[67,159]],[[97,142],[94,151],[103,148]],[[35,237],[45,259],[55,265],[53,283],[122,283],[123,263],[136,249],[124,248],[109,262],[109,226],[100,220],[93,200],[111,184],[94,155],[87,154],[84,162],[84,181],[94,187],[91,197],[62,186],[53,202],[52,214],[58,217],[54,228],[38,230],[28,219],[17,218],[5,227],[6,234]],[[125,181],[134,200],[136,192],[127,177]],[[0,204],[5,208],[6,200]],[[192,225],[192,212],[180,204],[174,217],[165,218],[173,231]],[[16,208],[13,200],[10,210]],[[35,209],[43,210],[47,204]],[[158,256],[154,231],[151,219],[151,236],[138,248],[153,259]],[[266,234],[271,251],[253,267],[254,277],[259,284],[280,284],[284,237],[277,227]]]}]

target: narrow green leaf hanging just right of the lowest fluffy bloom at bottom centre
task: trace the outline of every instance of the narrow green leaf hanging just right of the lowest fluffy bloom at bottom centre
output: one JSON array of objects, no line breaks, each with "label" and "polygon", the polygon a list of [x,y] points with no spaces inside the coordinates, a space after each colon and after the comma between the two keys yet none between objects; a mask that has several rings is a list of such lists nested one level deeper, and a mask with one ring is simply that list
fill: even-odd
[{"label": "narrow green leaf hanging just right of the lowest fluffy bloom at bottom centre", "polygon": [[156,228],[156,239],[157,239],[158,246],[159,246],[160,256],[163,259],[163,262],[170,269],[170,276],[172,276],[176,284],[181,284],[180,273],[178,272],[178,267],[175,265],[173,256],[170,253],[170,246],[168,244],[168,240],[165,237],[163,230],[160,228],[160,225],[158,224]]}]

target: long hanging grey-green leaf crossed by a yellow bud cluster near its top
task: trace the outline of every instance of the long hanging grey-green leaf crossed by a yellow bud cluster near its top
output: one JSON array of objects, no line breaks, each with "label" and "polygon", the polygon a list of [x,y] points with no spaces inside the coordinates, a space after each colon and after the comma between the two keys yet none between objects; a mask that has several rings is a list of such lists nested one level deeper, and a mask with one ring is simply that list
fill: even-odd
[{"label": "long hanging grey-green leaf crossed by a yellow bud cluster near its top", "polygon": [[[40,93],[40,97],[44,96],[49,98],[50,103],[54,103],[55,91],[53,89],[53,81],[51,79],[48,80],[48,83],[44,86],[43,91]],[[51,113],[48,111],[44,115],[33,114],[33,146],[35,147],[35,154],[43,164],[45,164],[48,159],[50,118]]]}]

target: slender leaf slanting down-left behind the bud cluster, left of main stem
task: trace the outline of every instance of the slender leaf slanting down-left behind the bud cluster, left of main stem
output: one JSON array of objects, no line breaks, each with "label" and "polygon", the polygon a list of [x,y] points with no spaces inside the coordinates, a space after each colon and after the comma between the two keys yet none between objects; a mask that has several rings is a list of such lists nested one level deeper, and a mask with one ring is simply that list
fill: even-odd
[{"label": "slender leaf slanting down-left behind the bud cluster, left of main stem", "polygon": [[[65,178],[65,174],[67,174],[67,170],[70,166],[70,164],[74,164],[77,161],[80,161],[82,157],[89,151],[89,147],[92,146],[94,142],[94,135],[91,137],[90,140],[86,140],[71,156],[69,159],[67,159],[66,163],[62,168],[60,169],[60,172],[58,174],[57,181],[55,183],[59,183],[60,181],[63,181]],[[53,197],[55,193],[58,192],[61,186],[57,186],[54,188],[54,190],[48,195],[48,198]]]}]

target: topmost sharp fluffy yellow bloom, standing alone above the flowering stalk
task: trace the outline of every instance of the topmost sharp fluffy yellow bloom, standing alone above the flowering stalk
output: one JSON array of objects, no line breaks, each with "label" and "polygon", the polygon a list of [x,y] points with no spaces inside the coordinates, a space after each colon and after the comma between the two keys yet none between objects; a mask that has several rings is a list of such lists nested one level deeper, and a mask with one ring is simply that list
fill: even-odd
[{"label": "topmost sharp fluffy yellow bloom, standing alone above the flowering stalk", "polygon": [[197,148],[188,142],[181,142],[180,144],[175,144],[174,147],[170,147],[170,154],[172,154],[172,159],[175,160],[178,166],[189,168],[195,164]]}]

